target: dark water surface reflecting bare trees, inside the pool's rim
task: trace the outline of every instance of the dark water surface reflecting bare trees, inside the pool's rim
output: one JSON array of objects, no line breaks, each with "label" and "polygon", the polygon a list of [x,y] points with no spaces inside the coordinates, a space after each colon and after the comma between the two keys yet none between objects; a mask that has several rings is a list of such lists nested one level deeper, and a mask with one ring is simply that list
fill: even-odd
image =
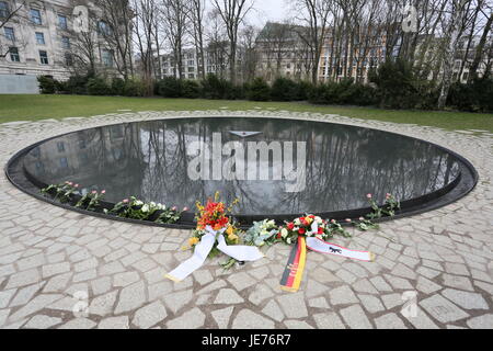
[{"label": "dark water surface reflecting bare trees, inside the pool's rim", "polygon": [[[262,134],[243,139],[229,131]],[[193,141],[210,143],[213,133],[221,133],[222,143],[306,141],[306,190],[286,193],[285,181],[192,181],[187,169],[194,157],[186,148]],[[220,191],[226,201],[241,200],[237,208],[241,215],[359,208],[366,206],[367,193],[390,192],[404,201],[439,190],[459,176],[456,158],[427,143],[352,126],[274,118],[164,120],[100,127],[44,143],[24,162],[26,171],[47,184],[70,180],[105,189],[111,202],[135,195],[194,207],[196,200]],[[278,171],[282,165],[271,161],[268,167]]]}]

